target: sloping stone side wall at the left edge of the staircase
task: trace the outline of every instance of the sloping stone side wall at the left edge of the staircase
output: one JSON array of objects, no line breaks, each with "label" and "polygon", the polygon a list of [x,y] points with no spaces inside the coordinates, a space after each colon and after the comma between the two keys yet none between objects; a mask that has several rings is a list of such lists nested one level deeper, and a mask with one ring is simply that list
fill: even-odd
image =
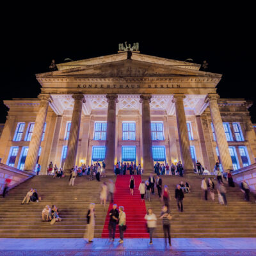
[{"label": "sloping stone side wall at the left edge of the staircase", "polygon": [[6,179],[10,180],[8,189],[12,189],[33,176],[35,176],[34,173],[21,171],[17,168],[0,163],[0,195],[3,194]]}]

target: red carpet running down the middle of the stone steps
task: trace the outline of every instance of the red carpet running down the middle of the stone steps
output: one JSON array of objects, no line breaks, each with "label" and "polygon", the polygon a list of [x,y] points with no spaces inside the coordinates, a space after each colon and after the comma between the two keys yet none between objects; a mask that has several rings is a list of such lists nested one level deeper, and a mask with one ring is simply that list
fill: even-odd
[{"label": "red carpet running down the middle of the stone steps", "polygon": [[[145,214],[147,213],[146,205],[144,201],[141,202],[140,191],[138,191],[141,177],[140,175],[134,175],[135,188],[133,196],[130,195],[130,177],[130,175],[118,175],[116,177],[116,189],[114,193],[114,204],[117,204],[118,207],[124,206],[124,212],[126,214],[127,230],[124,233],[124,238],[149,237],[146,221],[144,220]],[[112,207],[113,205],[109,204],[101,237],[108,237],[109,211]],[[119,237],[118,225],[116,225],[116,237]]]}]

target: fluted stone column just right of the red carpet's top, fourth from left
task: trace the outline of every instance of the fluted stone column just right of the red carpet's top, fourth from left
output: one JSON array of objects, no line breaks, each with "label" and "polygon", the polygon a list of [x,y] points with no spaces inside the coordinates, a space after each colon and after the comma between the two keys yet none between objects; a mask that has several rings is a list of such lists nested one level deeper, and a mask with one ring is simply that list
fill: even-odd
[{"label": "fluted stone column just right of the red carpet's top, fourth from left", "polygon": [[150,94],[140,95],[141,122],[142,122],[142,145],[143,145],[143,170],[144,174],[154,171],[152,156],[151,118],[150,118]]}]

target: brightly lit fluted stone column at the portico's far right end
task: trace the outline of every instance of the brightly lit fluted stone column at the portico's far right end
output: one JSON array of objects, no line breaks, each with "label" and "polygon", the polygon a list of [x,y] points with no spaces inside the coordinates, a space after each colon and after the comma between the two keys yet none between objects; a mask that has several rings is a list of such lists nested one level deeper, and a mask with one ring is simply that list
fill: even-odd
[{"label": "brightly lit fluted stone column at the portico's far right end", "polygon": [[207,97],[207,101],[209,102],[209,108],[211,112],[211,118],[212,118],[212,124],[214,127],[214,132],[216,136],[216,143],[218,150],[220,152],[220,161],[222,164],[223,172],[225,172],[229,168],[232,167],[232,159],[229,154],[228,150],[228,143],[226,134],[223,128],[221,115],[220,115],[220,109],[218,107],[217,99],[219,99],[220,96],[215,93],[209,93]]}]

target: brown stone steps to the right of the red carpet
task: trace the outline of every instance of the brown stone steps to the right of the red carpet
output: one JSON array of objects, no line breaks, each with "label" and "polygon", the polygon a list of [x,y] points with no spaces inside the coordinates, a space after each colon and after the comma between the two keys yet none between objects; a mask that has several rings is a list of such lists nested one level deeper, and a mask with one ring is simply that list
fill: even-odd
[{"label": "brown stone steps to the right of the red carpet", "polygon": [[[207,177],[207,176],[205,176]],[[148,177],[142,177],[146,180]],[[201,189],[202,176],[190,174],[188,177],[164,176],[163,185],[167,185],[171,194],[170,209],[173,216],[171,221],[172,237],[256,237],[256,204],[251,193],[251,202],[244,201],[244,194],[236,185],[227,188],[228,205],[218,203],[218,195],[215,192],[215,202],[212,202],[209,194],[208,200],[204,200]],[[180,181],[188,181],[191,193],[185,194],[183,201],[184,212],[179,212],[175,200],[175,186]],[[217,182],[214,180],[214,184]],[[215,186],[216,188],[216,186]],[[152,202],[146,201],[146,207],[152,207],[157,218],[160,216],[161,205],[157,195]],[[163,237],[161,220],[157,221],[154,236]]]}]

